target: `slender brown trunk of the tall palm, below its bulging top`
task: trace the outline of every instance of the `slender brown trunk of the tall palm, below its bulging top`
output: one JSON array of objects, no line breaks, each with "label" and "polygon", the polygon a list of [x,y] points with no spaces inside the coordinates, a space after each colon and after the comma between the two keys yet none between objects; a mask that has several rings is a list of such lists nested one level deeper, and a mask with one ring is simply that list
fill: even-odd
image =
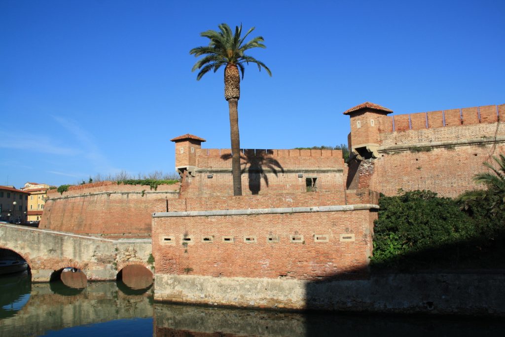
[{"label": "slender brown trunk of the tall palm, below its bulging top", "polygon": [[230,138],[231,138],[231,174],[233,175],[233,195],[242,195],[242,179],[240,177],[240,137],[238,135],[238,100],[228,100],[230,110]]}]

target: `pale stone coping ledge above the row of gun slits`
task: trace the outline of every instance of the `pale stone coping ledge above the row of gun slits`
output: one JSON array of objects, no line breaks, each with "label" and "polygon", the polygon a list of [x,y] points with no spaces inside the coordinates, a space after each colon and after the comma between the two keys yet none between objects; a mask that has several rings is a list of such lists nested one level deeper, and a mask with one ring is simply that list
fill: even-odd
[{"label": "pale stone coping ledge above the row of gun slits", "polygon": [[188,211],[188,212],[156,212],[154,218],[165,217],[193,217],[193,216],[230,216],[230,215],[254,215],[254,214],[286,214],[286,213],[314,213],[314,212],[346,212],[358,210],[379,209],[379,205],[334,205],[314,207],[282,207],[282,208],[257,208],[238,210],[212,210],[212,211]]}]

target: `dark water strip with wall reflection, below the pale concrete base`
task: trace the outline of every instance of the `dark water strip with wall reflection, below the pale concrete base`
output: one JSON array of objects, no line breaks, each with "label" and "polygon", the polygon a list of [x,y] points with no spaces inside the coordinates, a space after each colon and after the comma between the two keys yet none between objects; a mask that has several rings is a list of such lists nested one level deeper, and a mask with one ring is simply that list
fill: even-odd
[{"label": "dark water strip with wall reflection, below the pale concrete base", "polygon": [[160,336],[502,336],[498,319],[278,312],[155,304]]}]

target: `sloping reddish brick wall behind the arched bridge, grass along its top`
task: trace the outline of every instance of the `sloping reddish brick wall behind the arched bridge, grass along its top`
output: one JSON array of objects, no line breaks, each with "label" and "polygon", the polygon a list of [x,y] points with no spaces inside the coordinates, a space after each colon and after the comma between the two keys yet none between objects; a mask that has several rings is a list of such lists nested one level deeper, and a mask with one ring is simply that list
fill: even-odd
[{"label": "sloping reddish brick wall behind the arched bridge, grass along its top", "polygon": [[[118,185],[105,181],[47,191],[40,228],[80,234],[150,236],[155,205],[178,197],[180,184]],[[162,201],[160,201],[162,199]]]}]

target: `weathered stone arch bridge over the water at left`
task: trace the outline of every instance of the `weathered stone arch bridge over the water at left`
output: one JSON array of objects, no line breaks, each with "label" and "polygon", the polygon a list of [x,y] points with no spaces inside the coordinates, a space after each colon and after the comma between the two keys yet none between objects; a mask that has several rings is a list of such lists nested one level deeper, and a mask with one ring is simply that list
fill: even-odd
[{"label": "weathered stone arch bridge over the water at left", "polygon": [[150,239],[105,239],[54,230],[1,224],[0,249],[21,255],[33,282],[45,282],[62,268],[82,270],[88,280],[114,280],[128,265],[142,265],[152,252]]}]

